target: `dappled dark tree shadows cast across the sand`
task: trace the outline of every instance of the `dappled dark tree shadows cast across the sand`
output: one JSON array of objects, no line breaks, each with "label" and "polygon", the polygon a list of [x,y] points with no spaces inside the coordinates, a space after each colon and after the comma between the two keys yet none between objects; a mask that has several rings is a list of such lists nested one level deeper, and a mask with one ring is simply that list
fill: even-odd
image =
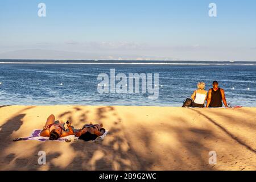
[{"label": "dappled dark tree shadows cast across the sand", "polygon": [[[22,119],[25,114],[17,114],[9,119],[0,131],[0,169],[15,169],[15,170],[150,170],[160,166],[161,169],[172,170],[200,170],[214,169],[208,164],[208,153],[202,151],[210,151],[210,148],[205,146],[205,139],[214,139],[216,135],[210,130],[198,129],[196,127],[174,127],[171,125],[155,126],[159,132],[172,133],[176,136],[177,143],[182,144],[184,150],[179,148],[161,146],[158,143],[152,143],[154,135],[147,127],[140,127],[136,131],[133,126],[130,129],[124,129],[122,119],[118,112],[112,106],[97,107],[94,110],[96,117],[95,123],[104,123],[108,126],[109,134],[102,143],[93,142],[38,142],[33,141],[30,148],[26,148],[24,141],[12,142],[11,134],[20,129],[23,125]],[[236,140],[248,150],[255,152],[253,148],[248,146],[242,140],[235,137],[232,133],[219,125],[207,115],[198,110],[193,110],[196,113],[203,115],[209,122],[220,128],[223,132],[229,135],[230,138]],[[86,110],[86,107],[73,107],[64,113],[57,115],[57,118],[69,119],[76,122],[76,125],[81,127],[88,121],[91,111]],[[73,115],[78,115],[79,119],[74,121]],[[77,117],[76,117],[77,118]],[[172,120],[177,120],[186,124],[185,119],[172,117]],[[170,122],[171,122],[170,119]],[[128,130],[134,130],[130,132]],[[143,131],[143,132],[141,132]],[[134,136],[132,136],[134,135]],[[190,137],[185,137],[190,136]],[[131,138],[136,138],[145,147],[142,154],[138,150],[136,144]],[[10,152],[11,148],[24,147],[23,151],[29,155],[18,155]],[[47,166],[38,164],[38,151],[46,151]],[[159,152],[166,152],[166,155],[160,156]],[[188,163],[188,160],[191,160]],[[161,166],[162,165],[162,166]],[[156,169],[160,169],[156,168]]]}]

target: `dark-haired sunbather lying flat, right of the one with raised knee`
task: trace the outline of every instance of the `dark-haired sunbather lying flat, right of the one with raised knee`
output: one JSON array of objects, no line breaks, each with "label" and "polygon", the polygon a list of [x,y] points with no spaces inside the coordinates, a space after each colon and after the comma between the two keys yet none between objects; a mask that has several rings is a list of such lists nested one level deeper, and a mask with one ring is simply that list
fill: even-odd
[{"label": "dark-haired sunbather lying flat, right of the one with raised knee", "polygon": [[102,124],[92,125],[92,123],[90,123],[84,125],[82,129],[75,131],[75,135],[85,141],[95,140],[105,133],[106,130],[102,126]]}]

